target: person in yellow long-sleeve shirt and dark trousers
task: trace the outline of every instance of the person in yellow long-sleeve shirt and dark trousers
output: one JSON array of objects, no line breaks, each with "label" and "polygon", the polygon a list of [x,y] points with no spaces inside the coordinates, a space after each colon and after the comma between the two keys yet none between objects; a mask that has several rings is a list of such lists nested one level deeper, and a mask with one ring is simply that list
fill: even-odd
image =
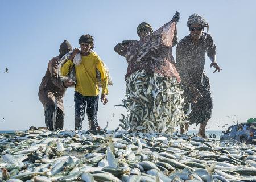
[{"label": "person in yellow long-sleeve shirt and dark trousers", "polygon": [[97,112],[98,112],[98,95],[100,89],[96,79],[96,69],[101,73],[102,92],[101,102],[105,105],[108,100],[106,95],[108,92],[108,76],[104,65],[94,48],[93,37],[86,34],[79,39],[81,51],[74,49],[69,60],[61,67],[61,75],[68,75],[70,68],[74,65],[73,59],[80,52],[82,56],[81,63],[75,65],[76,86],[75,86],[75,130],[82,129],[82,121],[85,117],[85,107],[87,103],[86,113],[89,119],[90,130],[98,128]]}]

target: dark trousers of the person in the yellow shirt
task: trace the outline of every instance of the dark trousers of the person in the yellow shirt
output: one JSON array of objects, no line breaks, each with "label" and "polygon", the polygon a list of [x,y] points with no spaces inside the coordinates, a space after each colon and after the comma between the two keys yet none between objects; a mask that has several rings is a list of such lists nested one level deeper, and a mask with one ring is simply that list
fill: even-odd
[{"label": "dark trousers of the person in the yellow shirt", "polygon": [[98,96],[82,96],[79,92],[74,94],[75,101],[75,130],[82,130],[82,121],[85,117],[85,107],[87,103],[86,113],[89,120],[90,130],[96,130],[98,127]]}]

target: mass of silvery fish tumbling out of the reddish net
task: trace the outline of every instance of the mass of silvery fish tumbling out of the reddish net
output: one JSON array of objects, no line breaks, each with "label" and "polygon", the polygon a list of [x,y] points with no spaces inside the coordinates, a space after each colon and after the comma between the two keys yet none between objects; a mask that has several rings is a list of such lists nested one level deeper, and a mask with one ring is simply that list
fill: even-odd
[{"label": "mass of silvery fish tumbling out of the reddish net", "polygon": [[189,122],[191,111],[184,113],[183,90],[175,77],[151,76],[144,69],[127,77],[122,106],[128,114],[119,126],[131,133],[174,133],[178,124]]}]

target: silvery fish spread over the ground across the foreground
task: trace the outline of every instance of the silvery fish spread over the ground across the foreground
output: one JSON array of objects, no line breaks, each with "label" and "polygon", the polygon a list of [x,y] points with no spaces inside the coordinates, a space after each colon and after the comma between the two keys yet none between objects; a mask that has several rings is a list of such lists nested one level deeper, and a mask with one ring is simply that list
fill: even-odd
[{"label": "silvery fish spread over the ground across the foreground", "polygon": [[188,135],[29,130],[1,134],[0,152],[8,182],[256,181],[254,146]]}]

